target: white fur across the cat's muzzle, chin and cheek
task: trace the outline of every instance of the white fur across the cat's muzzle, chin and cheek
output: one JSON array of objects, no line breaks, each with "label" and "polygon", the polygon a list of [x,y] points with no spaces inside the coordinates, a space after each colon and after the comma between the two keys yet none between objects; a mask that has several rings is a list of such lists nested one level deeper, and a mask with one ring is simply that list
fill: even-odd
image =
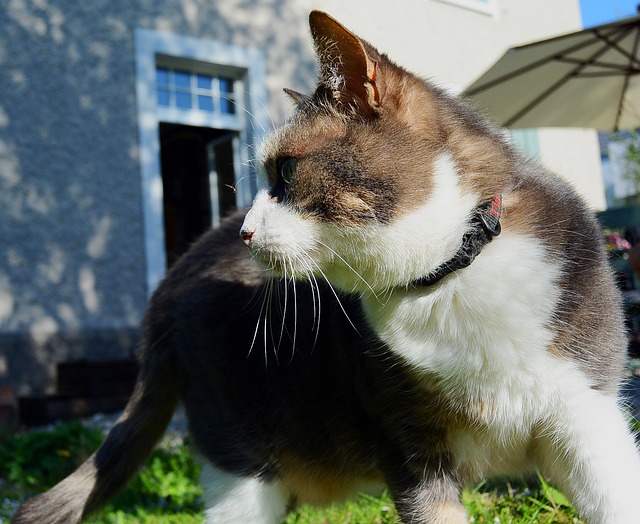
[{"label": "white fur across the cat's muzzle, chin and cheek", "polygon": [[433,271],[457,251],[478,204],[457,179],[451,156],[442,154],[426,205],[388,226],[366,228],[302,218],[264,190],[242,229],[253,233],[252,251],[267,267],[278,259],[298,277],[314,272],[348,292],[384,292]]}]

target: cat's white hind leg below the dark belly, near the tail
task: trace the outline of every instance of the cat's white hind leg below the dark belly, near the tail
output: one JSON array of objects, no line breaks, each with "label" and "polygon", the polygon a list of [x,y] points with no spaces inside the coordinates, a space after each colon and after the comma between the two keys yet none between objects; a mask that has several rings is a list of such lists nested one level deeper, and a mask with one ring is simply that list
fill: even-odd
[{"label": "cat's white hind leg below the dark belly, near the tail", "polygon": [[276,524],[284,516],[286,499],[276,484],[239,477],[204,462],[206,524]]}]

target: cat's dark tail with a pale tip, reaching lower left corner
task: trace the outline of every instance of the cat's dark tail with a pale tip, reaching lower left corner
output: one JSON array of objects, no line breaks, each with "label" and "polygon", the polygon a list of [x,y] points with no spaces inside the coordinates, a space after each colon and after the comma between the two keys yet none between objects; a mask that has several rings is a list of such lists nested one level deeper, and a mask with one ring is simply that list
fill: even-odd
[{"label": "cat's dark tail with a pale tip, reaching lower left corner", "polygon": [[49,491],[25,502],[11,522],[70,524],[100,508],[164,434],[180,400],[181,375],[171,348],[148,351],[124,413],[100,448]]}]

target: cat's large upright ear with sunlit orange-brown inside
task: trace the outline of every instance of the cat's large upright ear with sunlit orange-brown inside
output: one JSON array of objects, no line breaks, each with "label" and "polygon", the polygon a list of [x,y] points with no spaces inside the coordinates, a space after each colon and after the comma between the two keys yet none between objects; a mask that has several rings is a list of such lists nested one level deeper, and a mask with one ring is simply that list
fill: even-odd
[{"label": "cat's large upright ear with sunlit orange-brown inside", "polygon": [[311,12],[309,26],[320,61],[320,85],[337,101],[374,116],[383,94],[377,51],[322,11]]}]

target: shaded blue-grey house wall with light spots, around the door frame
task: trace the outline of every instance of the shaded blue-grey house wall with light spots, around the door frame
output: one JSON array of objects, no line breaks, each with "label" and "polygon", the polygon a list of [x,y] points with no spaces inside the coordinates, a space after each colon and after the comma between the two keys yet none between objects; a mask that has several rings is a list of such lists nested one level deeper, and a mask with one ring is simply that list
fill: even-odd
[{"label": "shaded blue-grey house wall with light spots, around the door frame", "polygon": [[135,101],[137,27],[264,51],[282,87],[312,89],[295,0],[12,0],[0,33],[0,386],[52,385],[56,362],[135,350],[145,253]]}]

